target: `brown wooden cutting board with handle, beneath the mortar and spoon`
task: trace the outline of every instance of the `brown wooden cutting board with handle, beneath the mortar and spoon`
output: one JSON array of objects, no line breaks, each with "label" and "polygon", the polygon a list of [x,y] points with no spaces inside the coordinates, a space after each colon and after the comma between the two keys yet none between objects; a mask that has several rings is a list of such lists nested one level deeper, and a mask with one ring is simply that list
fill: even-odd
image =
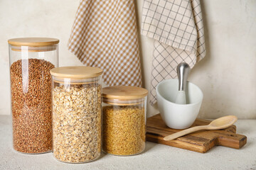
[{"label": "brown wooden cutting board with handle, beneath the mortar and spoon", "polygon": [[[208,125],[210,120],[196,119],[193,126]],[[235,125],[223,130],[201,130],[193,132],[176,140],[165,141],[163,138],[180,130],[168,128],[161,115],[154,115],[146,120],[146,140],[159,144],[179,147],[195,152],[206,153],[211,148],[219,145],[223,147],[231,147],[240,149],[247,142],[245,135],[236,134]]]}]

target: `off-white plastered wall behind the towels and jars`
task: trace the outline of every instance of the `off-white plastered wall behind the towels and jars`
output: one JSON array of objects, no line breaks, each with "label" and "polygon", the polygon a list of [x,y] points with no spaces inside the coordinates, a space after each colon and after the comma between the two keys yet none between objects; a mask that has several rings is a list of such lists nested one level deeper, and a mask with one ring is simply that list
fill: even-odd
[{"label": "off-white plastered wall behind the towels and jars", "polygon": [[[0,114],[10,114],[9,38],[60,39],[60,66],[82,65],[67,50],[79,0],[0,1]],[[207,55],[189,80],[200,86],[204,99],[201,118],[238,115],[256,118],[256,1],[201,0]],[[142,0],[137,0],[140,23]],[[141,36],[144,85],[149,89],[153,40]],[[148,107],[148,115],[158,113]]]}]

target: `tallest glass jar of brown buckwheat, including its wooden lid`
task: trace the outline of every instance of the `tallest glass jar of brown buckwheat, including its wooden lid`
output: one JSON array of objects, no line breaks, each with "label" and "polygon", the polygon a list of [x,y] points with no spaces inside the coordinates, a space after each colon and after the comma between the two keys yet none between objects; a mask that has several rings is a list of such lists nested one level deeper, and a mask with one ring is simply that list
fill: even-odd
[{"label": "tallest glass jar of brown buckwheat, including its wooden lid", "polygon": [[58,39],[8,40],[13,146],[18,152],[52,150],[50,69],[58,67]]}]

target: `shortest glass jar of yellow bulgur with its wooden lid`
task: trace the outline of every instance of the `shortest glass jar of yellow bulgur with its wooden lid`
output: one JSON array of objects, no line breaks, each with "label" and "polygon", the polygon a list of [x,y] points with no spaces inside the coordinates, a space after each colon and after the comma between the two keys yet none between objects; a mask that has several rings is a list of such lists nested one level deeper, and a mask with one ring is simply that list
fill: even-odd
[{"label": "shortest glass jar of yellow bulgur with its wooden lid", "polygon": [[146,95],[135,86],[102,89],[102,149],[107,154],[128,156],[146,145]]}]

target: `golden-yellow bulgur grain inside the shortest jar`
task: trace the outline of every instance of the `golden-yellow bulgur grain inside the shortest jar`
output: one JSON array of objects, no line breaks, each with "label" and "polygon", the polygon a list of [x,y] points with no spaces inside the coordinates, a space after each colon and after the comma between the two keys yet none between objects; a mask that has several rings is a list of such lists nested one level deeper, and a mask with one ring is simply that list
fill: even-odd
[{"label": "golden-yellow bulgur grain inside the shortest jar", "polygon": [[103,151],[115,155],[139,154],[145,148],[144,106],[102,107]]}]

